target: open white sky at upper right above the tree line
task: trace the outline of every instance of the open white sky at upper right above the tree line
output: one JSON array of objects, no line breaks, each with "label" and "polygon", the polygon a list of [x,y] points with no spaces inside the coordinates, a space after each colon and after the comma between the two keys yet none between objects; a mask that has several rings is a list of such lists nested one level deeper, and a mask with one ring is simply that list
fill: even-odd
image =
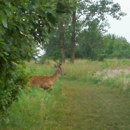
[{"label": "open white sky at upper right above the tree line", "polygon": [[127,13],[121,20],[109,18],[110,29],[108,33],[123,36],[130,43],[130,0],[113,0],[114,3],[119,3],[121,11]]}]

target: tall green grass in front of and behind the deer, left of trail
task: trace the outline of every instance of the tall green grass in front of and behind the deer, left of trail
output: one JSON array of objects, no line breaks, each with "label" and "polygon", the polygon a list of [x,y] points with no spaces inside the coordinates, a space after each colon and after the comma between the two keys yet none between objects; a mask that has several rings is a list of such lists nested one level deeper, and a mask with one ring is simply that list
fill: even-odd
[{"label": "tall green grass in front of and behind the deer, left of trail", "polygon": [[[53,67],[39,64],[29,64],[29,75],[51,75]],[[46,68],[46,69],[44,69]],[[25,88],[18,95],[7,110],[6,117],[0,123],[2,129],[7,130],[43,130],[55,129],[61,120],[62,89],[59,80],[53,85],[52,91],[40,88]]]}]

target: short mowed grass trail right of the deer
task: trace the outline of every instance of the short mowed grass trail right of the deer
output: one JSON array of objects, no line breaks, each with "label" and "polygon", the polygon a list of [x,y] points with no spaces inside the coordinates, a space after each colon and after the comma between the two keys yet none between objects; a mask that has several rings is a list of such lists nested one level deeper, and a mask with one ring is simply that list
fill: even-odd
[{"label": "short mowed grass trail right of the deer", "polygon": [[122,92],[64,80],[61,130],[130,130],[130,99]]}]

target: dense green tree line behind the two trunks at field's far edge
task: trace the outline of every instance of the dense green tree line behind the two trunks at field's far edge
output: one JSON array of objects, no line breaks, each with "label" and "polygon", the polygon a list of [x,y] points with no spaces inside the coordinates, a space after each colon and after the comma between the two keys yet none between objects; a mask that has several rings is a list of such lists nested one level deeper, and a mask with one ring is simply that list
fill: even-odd
[{"label": "dense green tree line behind the two trunks at field's far edge", "polygon": [[[56,37],[51,38],[46,47],[46,54],[41,57],[41,60],[46,58],[61,59],[58,39]],[[69,44],[65,44],[65,50],[66,58],[70,59]],[[77,37],[75,58],[91,60],[130,58],[130,43],[124,37],[115,34],[103,35],[99,30],[84,30]]]}]

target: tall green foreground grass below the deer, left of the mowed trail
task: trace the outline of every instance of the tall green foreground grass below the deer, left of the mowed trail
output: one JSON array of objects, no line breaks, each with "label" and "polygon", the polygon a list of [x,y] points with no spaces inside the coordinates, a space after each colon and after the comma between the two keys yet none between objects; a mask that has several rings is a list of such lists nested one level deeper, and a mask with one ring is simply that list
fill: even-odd
[{"label": "tall green foreground grass below the deer, left of the mowed trail", "polygon": [[16,130],[36,130],[45,128],[49,123],[51,128],[55,128],[61,120],[59,118],[61,113],[56,109],[62,105],[58,102],[61,100],[60,93],[58,90],[46,92],[36,88],[22,90],[18,101],[15,101],[7,111],[9,127]]}]

